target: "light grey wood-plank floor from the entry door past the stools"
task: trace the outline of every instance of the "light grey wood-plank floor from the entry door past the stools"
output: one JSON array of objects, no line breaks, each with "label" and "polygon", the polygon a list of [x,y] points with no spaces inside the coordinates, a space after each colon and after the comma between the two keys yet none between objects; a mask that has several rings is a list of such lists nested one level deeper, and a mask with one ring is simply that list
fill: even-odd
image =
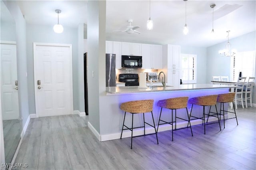
[{"label": "light grey wood-plank floor from the entry door past the stools", "polygon": [[[239,105],[240,106],[240,105]],[[235,119],[155,135],[100,142],[78,115],[31,119],[15,163],[38,170],[256,169],[256,108],[238,108]]]}]

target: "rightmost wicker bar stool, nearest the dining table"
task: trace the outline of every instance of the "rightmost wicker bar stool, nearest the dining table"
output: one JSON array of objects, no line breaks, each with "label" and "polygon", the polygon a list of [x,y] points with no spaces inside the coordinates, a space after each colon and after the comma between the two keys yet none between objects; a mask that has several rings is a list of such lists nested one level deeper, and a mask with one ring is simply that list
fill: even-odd
[{"label": "rightmost wicker bar stool, nearest the dining table", "polygon": [[[217,98],[217,102],[220,103],[220,117],[221,117],[221,111],[223,111],[223,121],[224,121],[224,128],[225,128],[225,114],[224,112],[228,112],[228,113],[234,113],[235,116],[236,116],[236,109],[234,107],[234,97],[235,97],[235,94],[236,93],[226,93],[226,94],[221,94],[221,95],[218,95],[218,98]],[[231,112],[231,111],[225,111],[224,110],[224,103],[230,103],[232,102],[233,103],[233,108],[234,108],[234,112]],[[236,123],[238,125],[238,121],[237,121],[237,117],[231,117],[231,118],[228,118],[228,119],[234,119],[236,118]]]}]

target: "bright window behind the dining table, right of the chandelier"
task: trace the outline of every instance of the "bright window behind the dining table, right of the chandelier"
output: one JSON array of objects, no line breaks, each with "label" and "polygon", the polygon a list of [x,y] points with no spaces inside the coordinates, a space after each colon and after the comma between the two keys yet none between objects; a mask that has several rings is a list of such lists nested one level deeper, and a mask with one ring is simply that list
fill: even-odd
[{"label": "bright window behind the dining table, right of the chandelier", "polygon": [[239,72],[242,72],[242,77],[255,77],[255,62],[255,51],[236,53],[234,57],[231,57],[230,62],[232,80],[238,80]]}]

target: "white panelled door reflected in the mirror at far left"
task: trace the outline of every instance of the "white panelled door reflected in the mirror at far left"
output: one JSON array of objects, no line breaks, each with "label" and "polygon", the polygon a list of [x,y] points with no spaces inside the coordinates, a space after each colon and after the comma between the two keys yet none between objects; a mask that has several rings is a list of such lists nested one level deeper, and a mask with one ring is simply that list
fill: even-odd
[{"label": "white panelled door reflected in the mirror at far left", "polygon": [[[3,120],[19,119],[16,42],[1,42],[1,102]],[[18,81],[17,81],[18,83]]]}]

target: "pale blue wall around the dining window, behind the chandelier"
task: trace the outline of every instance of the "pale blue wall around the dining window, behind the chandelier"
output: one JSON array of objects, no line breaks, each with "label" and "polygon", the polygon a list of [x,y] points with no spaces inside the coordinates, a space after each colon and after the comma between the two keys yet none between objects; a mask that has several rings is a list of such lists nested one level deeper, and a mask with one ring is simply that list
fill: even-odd
[{"label": "pale blue wall around the dining window, behind the chandelier", "polygon": [[[231,49],[242,51],[256,51],[256,32],[229,40]],[[207,48],[206,82],[210,83],[214,75],[228,75],[230,77],[230,57],[221,57],[218,51],[225,48],[227,42],[218,43]],[[256,86],[253,88],[253,102],[256,103]]]}]

